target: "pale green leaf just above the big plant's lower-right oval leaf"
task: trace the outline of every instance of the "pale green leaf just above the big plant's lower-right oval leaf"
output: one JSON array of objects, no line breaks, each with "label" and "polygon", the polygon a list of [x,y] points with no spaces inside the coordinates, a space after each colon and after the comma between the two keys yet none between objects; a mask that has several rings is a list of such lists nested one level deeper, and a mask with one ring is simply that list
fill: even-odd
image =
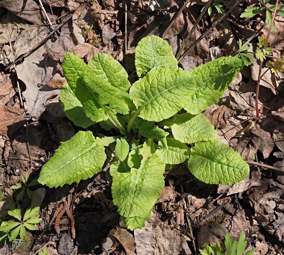
[{"label": "pale green leaf just above the big plant's lower-right oval leaf", "polygon": [[217,138],[217,131],[210,121],[202,114],[184,113],[174,116],[172,134],[183,143],[209,141]]}]

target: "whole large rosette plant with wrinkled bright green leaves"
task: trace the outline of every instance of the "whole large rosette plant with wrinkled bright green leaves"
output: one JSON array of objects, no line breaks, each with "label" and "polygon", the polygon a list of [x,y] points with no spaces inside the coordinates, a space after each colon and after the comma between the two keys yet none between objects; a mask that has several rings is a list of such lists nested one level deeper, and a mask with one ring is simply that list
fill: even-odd
[{"label": "whole large rosette plant with wrinkled bright green leaves", "polygon": [[123,67],[106,54],[85,64],[73,53],[62,63],[67,80],[60,100],[67,117],[86,128],[99,122],[116,136],[94,137],[79,131],[62,142],[42,167],[38,182],[58,187],[100,172],[105,147],[115,142],[110,165],[112,197],[127,228],[144,226],[164,187],[164,171],[188,160],[188,168],[206,183],[243,180],[249,167],[201,113],[218,102],[244,63],[222,57],[188,72],[178,68],[172,49],[158,36],[136,48],[138,81],[132,85]]}]

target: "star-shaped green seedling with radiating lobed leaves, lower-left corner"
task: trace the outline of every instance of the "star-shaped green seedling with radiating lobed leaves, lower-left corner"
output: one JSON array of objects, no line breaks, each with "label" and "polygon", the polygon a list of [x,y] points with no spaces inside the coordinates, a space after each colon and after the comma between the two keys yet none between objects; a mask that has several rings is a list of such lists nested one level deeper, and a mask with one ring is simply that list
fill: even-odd
[{"label": "star-shaped green seedling with radiating lobed leaves, lower-left corner", "polygon": [[24,237],[28,237],[26,228],[29,230],[36,230],[34,224],[41,222],[42,218],[36,216],[38,213],[39,207],[33,209],[28,208],[22,219],[20,206],[18,205],[16,208],[14,203],[10,203],[10,211],[8,211],[8,214],[19,221],[3,221],[1,223],[0,231],[8,233],[13,229],[10,233],[10,241],[15,240],[19,233],[20,238],[24,239]]}]

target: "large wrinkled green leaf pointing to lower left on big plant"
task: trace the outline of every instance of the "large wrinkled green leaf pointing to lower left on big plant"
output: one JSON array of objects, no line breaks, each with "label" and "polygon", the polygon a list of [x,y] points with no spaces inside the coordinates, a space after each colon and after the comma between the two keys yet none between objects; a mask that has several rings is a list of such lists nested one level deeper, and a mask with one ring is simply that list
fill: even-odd
[{"label": "large wrinkled green leaf pointing to lower left on big plant", "polygon": [[43,165],[38,182],[58,187],[90,178],[102,170],[106,161],[104,150],[91,131],[79,131],[69,141],[62,142],[54,156]]}]

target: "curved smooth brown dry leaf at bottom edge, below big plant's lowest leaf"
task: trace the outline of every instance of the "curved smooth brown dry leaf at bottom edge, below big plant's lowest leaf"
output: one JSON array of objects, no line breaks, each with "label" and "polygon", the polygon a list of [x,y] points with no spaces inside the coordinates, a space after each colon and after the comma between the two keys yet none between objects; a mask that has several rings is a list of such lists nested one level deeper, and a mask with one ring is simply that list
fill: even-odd
[{"label": "curved smooth brown dry leaf at bottom edge, below big plant's lowest leaf", "polygon": [[127,231],[112,229],[109,231],[123,245],[127,255],[135,255],[135,240]]}]

